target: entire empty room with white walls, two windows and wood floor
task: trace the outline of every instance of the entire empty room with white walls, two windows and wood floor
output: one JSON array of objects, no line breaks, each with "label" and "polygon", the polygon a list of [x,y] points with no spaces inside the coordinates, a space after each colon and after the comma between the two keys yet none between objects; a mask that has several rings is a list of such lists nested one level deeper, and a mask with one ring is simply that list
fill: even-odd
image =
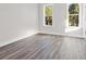
[{"label": "entire empty room with white walls, two windows and wood floor", "polygon": [[86,60],[86,4],[0,3],[0,60]]}]

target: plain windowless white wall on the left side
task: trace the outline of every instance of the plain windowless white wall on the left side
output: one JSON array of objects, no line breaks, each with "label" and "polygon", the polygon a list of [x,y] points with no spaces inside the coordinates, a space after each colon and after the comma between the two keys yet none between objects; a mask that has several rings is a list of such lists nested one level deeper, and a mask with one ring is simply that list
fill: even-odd
[{"label": "plain windowless white wall on the left side", "polygon": [[37,4],[0,3],[0,47],[36,34],[37,24]]}]

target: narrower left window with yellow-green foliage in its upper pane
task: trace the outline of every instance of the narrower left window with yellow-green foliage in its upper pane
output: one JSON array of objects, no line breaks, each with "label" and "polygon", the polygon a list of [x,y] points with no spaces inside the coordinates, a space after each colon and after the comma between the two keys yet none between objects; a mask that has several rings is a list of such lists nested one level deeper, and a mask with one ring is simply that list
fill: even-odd
[{"label": "narrower left window with yellow-green foliage in its upper pane", "polygon": [[45,4],[44,5],[44,22],[47,26],[52,26],[52,5]]}]

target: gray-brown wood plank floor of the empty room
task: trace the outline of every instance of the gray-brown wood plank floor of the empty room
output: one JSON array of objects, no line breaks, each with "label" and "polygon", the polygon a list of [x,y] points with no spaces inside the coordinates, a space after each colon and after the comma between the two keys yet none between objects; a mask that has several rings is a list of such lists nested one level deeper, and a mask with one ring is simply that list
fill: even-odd
[{"label": "gray-brown wood plank floor of the empty room", "polygon": [[0,48],[0,60],[85,60],[86,39],[37,34]]}]

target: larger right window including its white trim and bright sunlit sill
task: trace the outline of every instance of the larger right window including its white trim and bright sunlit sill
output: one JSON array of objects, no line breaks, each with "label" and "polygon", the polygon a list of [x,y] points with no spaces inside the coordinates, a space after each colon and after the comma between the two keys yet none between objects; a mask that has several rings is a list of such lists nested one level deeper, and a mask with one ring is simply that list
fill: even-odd
[{"label": "larger right window including its white trim and bright sunlit sill", "polygon": [[66,9],[65,33],[72,33],[81,28],[81,12],[82,5],[79,3],[70,3]]}]

